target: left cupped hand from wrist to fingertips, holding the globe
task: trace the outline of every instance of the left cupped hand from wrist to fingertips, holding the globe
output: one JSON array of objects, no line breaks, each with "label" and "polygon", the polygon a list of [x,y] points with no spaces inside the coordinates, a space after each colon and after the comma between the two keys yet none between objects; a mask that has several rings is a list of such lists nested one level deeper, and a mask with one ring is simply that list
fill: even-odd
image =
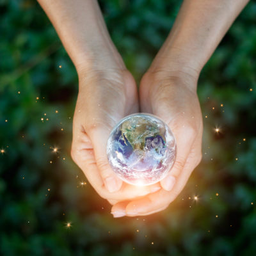
[{"label": "left cupped hand from wrist to fingertips, holding the globe", "polygon": [[159,184],[147,188],[126,184],[108,163],[106,145],[111,130],[124,116],[137,112],[137,87],[127,70],[79,72],[71,156],[97,193],[111,204],[161,188]]}]

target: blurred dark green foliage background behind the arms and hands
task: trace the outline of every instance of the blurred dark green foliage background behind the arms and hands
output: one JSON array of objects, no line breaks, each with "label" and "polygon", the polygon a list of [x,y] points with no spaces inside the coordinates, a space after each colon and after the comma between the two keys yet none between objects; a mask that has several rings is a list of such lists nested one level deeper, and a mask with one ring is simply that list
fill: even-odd
[{"label": "blurred dark green foliage background behind the arms and hands", "polygon": [[[100,1],[137,81],[180,4]],[[255,255],[255,22],[251,1],[200,76],[204,157],[184,191],[163,212],[114,219],[70,159],[74,66],[36,1],[0,0],[0,255]]]}]

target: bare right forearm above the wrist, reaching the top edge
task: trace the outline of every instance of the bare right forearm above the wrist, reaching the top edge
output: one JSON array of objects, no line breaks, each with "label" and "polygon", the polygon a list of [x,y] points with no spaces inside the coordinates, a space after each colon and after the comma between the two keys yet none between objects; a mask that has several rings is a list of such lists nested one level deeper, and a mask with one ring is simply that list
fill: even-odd
[{"label": "bare right forearm above the wrist, reaching the top edge", "polygon": [[198,76],[248,0],[184,0],[150,70]]}]

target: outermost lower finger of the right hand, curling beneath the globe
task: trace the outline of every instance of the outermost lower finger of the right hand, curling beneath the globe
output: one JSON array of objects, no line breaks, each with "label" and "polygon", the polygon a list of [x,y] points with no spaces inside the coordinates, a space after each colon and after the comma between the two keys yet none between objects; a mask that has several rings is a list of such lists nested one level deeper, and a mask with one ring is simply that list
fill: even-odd
[{"label": "outermost lower finger of the right hand, curling beneath the globe", "polygon": [[189,154],[189,157],[184,166],[184,170],[182,171],[182,173],[180,173],[179,177],[177,178],[177,182],[175,183],[175,186],[173,187],[172,191],[166,191],[164,189],[161,189],[156,193],[145,196],[145,198],[132,200],[132,202],[129,202],[129,204],[127,204],[126,206],[126,215],[148,215],[154,212],[162,211],[163,209],[168,207],[168,205],[173,200],[175,200],[175,198],[182,191],[186,182],[189,179],[189,176],[191,175],[191,172],[198,165],[198,157],[195,157],[195,155],[198,154],[198,152],[196,152],[196,154],[195,152],[191,152],[191,156]]}]

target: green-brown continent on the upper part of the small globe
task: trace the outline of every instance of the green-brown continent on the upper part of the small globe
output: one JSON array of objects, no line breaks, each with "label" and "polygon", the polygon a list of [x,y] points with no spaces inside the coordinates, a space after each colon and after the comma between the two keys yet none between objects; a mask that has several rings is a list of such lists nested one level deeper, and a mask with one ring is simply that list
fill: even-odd
[{"label": "green-brown continent on the upper part of the small globe", "polygon": [[[162,129],[159,129],[157,122],[150,120],[149,123],[147,119],[137,116],[132,118],[132,122],[131,120],[125,121],[120,130],[122,131],[122,136],[127,138],[134,149],[141,150],[145,147],[145,138],[162,134]],[[161,136],[164,138],[163,135]]]}]

